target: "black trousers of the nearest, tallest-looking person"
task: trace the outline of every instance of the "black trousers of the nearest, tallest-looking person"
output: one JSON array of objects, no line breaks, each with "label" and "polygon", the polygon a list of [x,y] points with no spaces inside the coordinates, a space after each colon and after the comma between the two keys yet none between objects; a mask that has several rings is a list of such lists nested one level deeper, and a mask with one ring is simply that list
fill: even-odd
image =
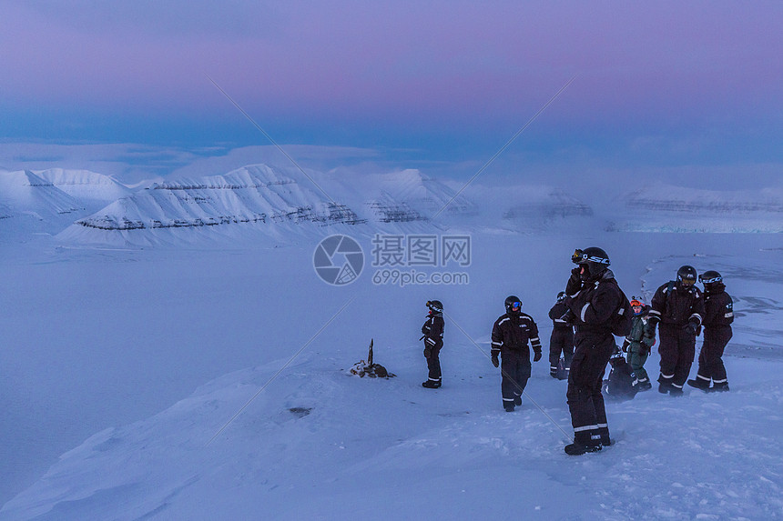
[{"label": "black trousers of the nearest, tallest-looking person", "polygon": [[609,437],[601,384],[606,364],[614,351],[615,337],[611,333],[576,336],[565,397],[577,443],[597,445],[595,436]]}]

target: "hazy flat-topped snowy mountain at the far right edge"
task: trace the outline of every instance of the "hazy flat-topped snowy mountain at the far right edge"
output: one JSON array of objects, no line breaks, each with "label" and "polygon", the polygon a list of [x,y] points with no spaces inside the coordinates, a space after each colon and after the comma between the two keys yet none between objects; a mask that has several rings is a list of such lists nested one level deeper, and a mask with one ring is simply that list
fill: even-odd
[{"label": "hazy flat-topped snowy mountain at the far right edge", "polygon": [[783,232],[783,190],[720,192],[652,185],[623,196],[609,213],[609,230]]}]

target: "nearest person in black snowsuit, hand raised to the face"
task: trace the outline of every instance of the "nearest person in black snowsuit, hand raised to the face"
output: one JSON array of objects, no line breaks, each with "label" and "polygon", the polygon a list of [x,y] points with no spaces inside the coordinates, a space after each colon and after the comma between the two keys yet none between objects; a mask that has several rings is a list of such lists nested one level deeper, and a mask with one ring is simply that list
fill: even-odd
[{"label": "nearest person in black snowsuit, hand raised to the face", "polygon": [[565,446],[565,452],[575,456],[611,444],[601,385],[606,364],[616,349],[613,320],[625,299],[604,250],[576,250],[572,261],[577,266],[565,286],[564,302],[569,310],[565,319],[576,326],[576,347],[565,397],[574,443]]}]

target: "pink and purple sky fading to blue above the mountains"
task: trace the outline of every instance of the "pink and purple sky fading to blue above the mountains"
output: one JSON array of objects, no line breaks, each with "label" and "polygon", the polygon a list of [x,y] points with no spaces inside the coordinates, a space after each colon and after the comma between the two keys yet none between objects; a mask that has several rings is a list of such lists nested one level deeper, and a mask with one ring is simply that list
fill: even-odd
[{"label": "pink and purple sky fading to blue above the mountains", "polygon": [[459,177],[575,77],[497,168],[783,177],[778,1],[0,0],[0,13],[5,154],[269,145],[211,77],[280,145]]}]

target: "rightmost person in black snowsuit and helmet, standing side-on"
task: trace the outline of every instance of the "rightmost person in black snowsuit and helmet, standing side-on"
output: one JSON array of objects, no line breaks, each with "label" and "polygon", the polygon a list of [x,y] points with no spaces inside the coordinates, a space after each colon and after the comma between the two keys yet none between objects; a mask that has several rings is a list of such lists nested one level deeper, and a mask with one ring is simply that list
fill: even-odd
[{"label": "rightmost person in black snowsuit and helmet, standing side-on", "polygon": [[[698,356],[698,372],[689,386],[703,391],[727,391],[726,366],[723,350],[731,340],[731,323],[734,322],[734,303],[726,293],[723,277],[717,271],[708,270],[698,277],[704,284],[704,345]],[[712,380],[712,387],[709,382]]]}]

